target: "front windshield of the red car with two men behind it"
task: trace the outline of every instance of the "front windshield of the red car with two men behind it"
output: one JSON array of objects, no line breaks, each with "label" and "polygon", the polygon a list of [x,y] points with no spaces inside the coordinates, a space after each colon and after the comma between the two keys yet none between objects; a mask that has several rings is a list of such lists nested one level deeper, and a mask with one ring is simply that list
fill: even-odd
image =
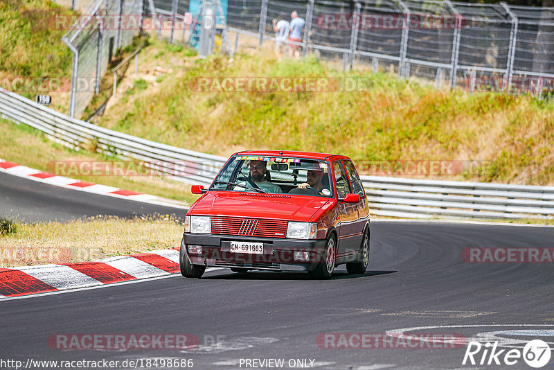
[{"label": "front windshield of the red car with two men behind it", "polygon": [[235,156],[210,190],[332,197],[327,161],[298,157]]}]

